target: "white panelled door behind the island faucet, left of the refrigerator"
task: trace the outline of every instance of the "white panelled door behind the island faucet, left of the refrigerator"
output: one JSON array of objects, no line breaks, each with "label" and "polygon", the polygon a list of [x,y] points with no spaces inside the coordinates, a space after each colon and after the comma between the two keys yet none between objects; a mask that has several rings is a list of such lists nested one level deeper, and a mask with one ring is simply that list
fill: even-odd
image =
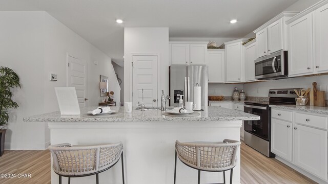
[{"label": "white panelled door behind the island faucet, left of the refrigerator", "polygon": [[133,106],[142,102],[142,89],[144,89],[145,106],[157,106],[157,56],[133,56]]}]

